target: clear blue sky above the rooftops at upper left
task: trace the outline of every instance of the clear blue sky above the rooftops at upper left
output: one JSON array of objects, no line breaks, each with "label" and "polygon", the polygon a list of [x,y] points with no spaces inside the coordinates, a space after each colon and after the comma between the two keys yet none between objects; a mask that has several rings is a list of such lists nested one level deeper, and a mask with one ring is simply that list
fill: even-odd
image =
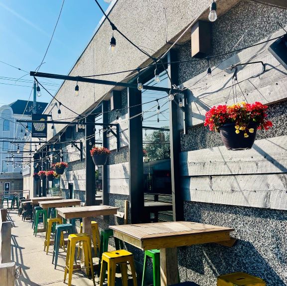
[{"label": "clear blue sky above the rooftops at upper left", "polygon": [[[104,0],[100,3],[104,10],[108,8]],[[0,61],[26,71],[35,70],[48,46],[61,4],[62,0],[0,0]],[[65,0],[45,63],[39,71],[67,74],[92,38],[102,16],[94,0]],[[13,80],[24,74],[0,62],[0,105],[17,99],[28,100],[32,77],[26,75],[16,83]],[[51,84],[46,88],[52,94],[58,87],[55,84],[60,83],[43,81]],[[49,102],[51,96],[42,91],[37,100]]]}]

